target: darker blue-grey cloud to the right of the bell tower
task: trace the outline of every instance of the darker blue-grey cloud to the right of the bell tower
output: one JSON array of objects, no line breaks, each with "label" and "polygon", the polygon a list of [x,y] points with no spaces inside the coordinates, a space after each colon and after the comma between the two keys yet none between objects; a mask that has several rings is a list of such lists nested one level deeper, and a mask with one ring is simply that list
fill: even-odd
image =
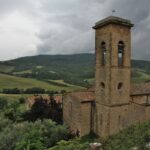
[{"label": "darker blue-grey cloud to the right of the bell tower", "polygon": [[150,58],[150,1],[149,0],[114,0],[110,8],[116,9],[116,15],[130,19],[135,27],[132,34],[132,58]]}]

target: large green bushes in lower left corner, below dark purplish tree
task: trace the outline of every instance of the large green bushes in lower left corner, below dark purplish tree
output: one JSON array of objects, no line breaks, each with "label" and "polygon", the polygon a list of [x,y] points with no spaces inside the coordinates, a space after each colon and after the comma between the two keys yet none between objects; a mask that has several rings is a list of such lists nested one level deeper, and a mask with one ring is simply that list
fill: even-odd
[{"label": "large green bushes in lower left corner, below dark purplish tree", "polygon": [[6,101],[8,103],[0,113],[0,150],[44,150],[70,138],[67,126],[51,120],[24,122],[23,114],[27,109],[23,97],[18,101]]}]

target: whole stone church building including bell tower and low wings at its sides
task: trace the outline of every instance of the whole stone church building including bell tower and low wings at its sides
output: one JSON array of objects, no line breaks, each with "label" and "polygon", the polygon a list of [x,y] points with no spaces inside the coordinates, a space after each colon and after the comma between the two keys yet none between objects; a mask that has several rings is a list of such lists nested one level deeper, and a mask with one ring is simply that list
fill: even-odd
[{"label": "whole stone church building including bell tower and low wings at its sides", "polygon": [[150,83],[131,84],[131,27],[110,16],[95,24],[95,87],[67,93],[63,118],[81,136],[100,137],[150,119]]}]

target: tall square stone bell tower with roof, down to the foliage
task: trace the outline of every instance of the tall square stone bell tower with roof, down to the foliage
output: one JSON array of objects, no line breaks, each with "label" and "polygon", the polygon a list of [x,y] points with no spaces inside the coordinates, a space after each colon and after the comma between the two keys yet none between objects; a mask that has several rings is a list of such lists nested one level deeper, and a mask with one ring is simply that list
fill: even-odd
[{"label": "tall square stone bell tower with roof, down to the foliage", "polygon": [[96,88],[94,132],[106,137],[126,125],[130,101],[131,27],[110,16],[95,24]]}]

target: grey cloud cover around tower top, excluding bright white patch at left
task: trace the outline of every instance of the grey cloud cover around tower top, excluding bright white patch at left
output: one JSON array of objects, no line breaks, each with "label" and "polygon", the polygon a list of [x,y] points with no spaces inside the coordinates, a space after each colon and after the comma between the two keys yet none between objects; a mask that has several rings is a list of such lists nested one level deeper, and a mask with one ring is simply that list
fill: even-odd
[{"label": "grey cloud cover around tower top, excluding bright white patch at left", "polygon": [[19,11],[35,19],[36,54],[71,54],[93,52],[94,31],[98,20],[114,15],[132,20],[132,57],[150,58],[149,0],[0,0],[0,17]]}]

